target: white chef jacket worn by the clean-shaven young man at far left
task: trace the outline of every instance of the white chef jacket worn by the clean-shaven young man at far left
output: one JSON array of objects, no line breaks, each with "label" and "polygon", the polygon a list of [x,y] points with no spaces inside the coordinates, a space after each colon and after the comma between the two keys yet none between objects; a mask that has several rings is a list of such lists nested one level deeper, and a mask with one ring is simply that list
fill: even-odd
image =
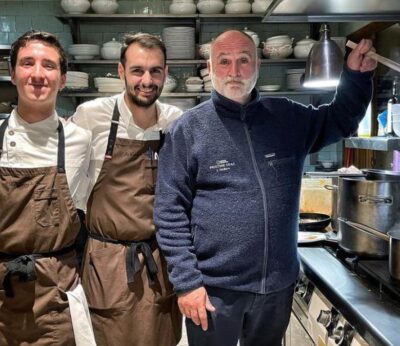
[{"label": "white chef jacket worn by the clean-shaven young man at far left", "polygon": [[[50,117],[28,123],[14,109],[3,141],[0,166],[37,168],[57,166],[58,121],[65,135],[65,172],[75,207],[85,208],[90,162],[91,134],[54,112]],[[0,124],[4,120],[0,121]]]}]

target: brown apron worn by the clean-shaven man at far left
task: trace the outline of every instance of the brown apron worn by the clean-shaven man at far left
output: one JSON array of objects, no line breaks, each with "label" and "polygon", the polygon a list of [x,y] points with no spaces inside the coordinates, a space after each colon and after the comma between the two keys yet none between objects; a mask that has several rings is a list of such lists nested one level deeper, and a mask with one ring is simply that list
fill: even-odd
[{"label": "brown apron worn by the clean-shaven man at far left", "polygon": [[0,345],[75,345],[65,292],[79,283],[80,222],[57,130],[57,167],[0,167]]}]

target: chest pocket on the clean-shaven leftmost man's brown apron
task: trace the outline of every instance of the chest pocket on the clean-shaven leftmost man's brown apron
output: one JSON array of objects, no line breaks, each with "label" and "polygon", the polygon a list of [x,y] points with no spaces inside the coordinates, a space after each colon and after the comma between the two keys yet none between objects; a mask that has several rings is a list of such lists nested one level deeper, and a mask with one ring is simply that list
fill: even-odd
[{"label": "chest pocket on the clean-shaven leftmost man's brown apron", "polygon": [[33,195],[35,220],[42,227],[60,224],[60,206],[57,189],[38,189]]}]

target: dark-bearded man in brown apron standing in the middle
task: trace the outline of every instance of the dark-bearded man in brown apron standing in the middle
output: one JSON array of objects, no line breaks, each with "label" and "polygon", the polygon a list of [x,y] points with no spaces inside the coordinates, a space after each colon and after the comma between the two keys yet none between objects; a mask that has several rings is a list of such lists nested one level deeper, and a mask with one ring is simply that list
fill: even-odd
[{"label": "dark-bearded man in brown apron standing in the middle", "polygon": [[182,320],[155,240],[153,201],[163,133],[182,112],[157,100],[168,72],[158,38],[127,35],[118,72],[124,92],[73,116],[93,138],[82,284],[98,345],[176,345]]}]

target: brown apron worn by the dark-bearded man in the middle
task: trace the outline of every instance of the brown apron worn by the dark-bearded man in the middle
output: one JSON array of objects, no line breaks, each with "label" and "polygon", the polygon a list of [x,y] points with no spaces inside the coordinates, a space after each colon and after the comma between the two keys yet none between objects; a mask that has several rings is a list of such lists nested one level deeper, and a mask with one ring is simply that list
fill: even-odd
[{"label": "brown apron worn by the dark-bearded man in the middle", "polygon": [[117,138],[115,105],[105,160],[87,207],[82,284],[99,346],[169,346],[182,317],[155,240],[160,140]]}]

